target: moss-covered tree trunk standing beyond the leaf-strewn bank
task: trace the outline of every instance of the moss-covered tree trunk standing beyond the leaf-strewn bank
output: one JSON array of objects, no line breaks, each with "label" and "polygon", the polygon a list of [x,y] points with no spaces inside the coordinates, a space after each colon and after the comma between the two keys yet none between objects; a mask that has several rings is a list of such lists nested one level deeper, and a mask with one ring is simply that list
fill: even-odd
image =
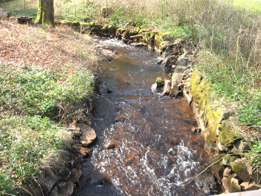
[{"label": "moss-covered tree trunk standing beyond the leaf-strewn bank", "polygon": [[38,12],[35,20],[38,24],[49,24],[55,26],[54,0],[39,0]]}]

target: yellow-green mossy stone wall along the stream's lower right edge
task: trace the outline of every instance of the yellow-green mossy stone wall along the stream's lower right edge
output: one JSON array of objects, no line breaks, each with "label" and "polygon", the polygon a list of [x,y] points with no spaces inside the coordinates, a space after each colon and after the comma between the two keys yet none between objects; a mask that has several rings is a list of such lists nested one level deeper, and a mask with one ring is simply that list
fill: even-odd
[{"label": "yellow-green mossy stone wall along the stream's lower right edge", "polygon": [[248,141],[235,131],[235,114],[215,100],[211,84],[199,71],[189,80],[194,108],[203,121],[205,148],[213,156],[212,170],[225,193],[251,191],[261,188],[261,173],[247,165],[243,153],[250,150]]}]

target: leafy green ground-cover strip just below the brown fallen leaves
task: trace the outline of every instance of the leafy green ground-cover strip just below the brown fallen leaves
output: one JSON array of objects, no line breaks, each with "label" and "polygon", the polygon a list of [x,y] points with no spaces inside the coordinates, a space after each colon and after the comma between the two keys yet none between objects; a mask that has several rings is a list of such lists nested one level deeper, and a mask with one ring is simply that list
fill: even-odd
[{"label": "leafy green ground-cover strip just below the brown fallen leaves", "polygon": [[61,81],[62,73],[0,65],[0,104],[15,104],[30,115],[52,117],[57,105],[77,104],[92,92],[93,75],[84,69]]}]

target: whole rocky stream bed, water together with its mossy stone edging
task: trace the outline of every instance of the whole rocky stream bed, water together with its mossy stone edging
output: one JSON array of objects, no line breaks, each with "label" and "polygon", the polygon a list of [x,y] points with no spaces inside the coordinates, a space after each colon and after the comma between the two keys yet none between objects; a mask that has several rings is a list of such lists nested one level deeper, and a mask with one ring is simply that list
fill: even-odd
[{"label": "whole rocky stream bed, water together with its mossy stone edging", "polygon": [[98,99],[86,111],[92,128],[78,124],[74,160],[58,177],[46,172],[50,196],[203,196],[260,188],[260,173],[239,155],[249,147],[234,138],[233,111],[213,105],[208,81],[193,72],[197,49],[169,43],[166,33],[84,25],[121,42],[96,40],[107,63]]}]

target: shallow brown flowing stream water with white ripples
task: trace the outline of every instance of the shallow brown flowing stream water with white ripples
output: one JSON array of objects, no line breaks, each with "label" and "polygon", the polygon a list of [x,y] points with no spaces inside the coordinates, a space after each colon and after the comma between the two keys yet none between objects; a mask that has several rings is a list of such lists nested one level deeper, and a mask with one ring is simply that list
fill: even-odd
[{"label": "shallow brown flowing stream water with white ripples", "polygon": [[[102,44],[119,57],[105,63],[101,81],[111,93],[95,102],[98,140],[83,164],[78,196],[203,196],[187,183],[206,167],[203,137],[184,98],[153,95],[150,86],[169,70],[158,54],[116,40]],[[110,144],[115,149],[108,150]]]}]

